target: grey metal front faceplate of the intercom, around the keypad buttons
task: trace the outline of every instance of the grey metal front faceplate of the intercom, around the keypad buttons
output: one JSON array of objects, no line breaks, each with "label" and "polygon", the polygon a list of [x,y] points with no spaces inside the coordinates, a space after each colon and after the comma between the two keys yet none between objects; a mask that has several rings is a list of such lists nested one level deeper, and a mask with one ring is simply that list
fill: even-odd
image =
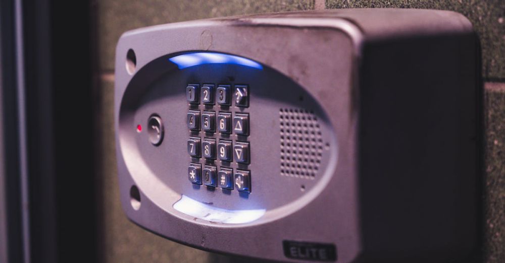
[{"label": "grey metal front faceplate of the intercom, around the keypad buttons", "polygon": [[[289,260],[284,246],[294,240],[329,245],[335,256],[338,250],[339,260],[356,256],[351,72],[359,31],[345,20],[314,25],[306,19],[289,21],[299,24],[196,21],[121,37],[116,54],[116,144],[121,200],[132,221],[213,251]],[[320,28],[309,30],[311,26]],[[312,48],[322,42],[332,44]],[[136,54],[136,72],[131,75],[125,69],[130,49]],[[218,60],[232,55],[260,67],[205,59],[186,67],[173,59],[194,54],[217,55]],[[214,105],[205,105],[201,97],[198,104],[191,104],[186,96],[189,84],[198,84],[200,91],[211,84],[213,92],[228,85],[231,105],[221,106],[217,98]],[[247,107],[235,105],[236,87],[241,85],[248,87]],[[201,126],[191,131],[190,111],[199,112],[200,118],[205,112],[215,112],[216,117],[229,112],[232,119],[246,113],[249,135],[237,136],[233,131],[225,135],[217,126],[213,133]],[[146,129],[151,116],[163,123],[158,146],[149,140]],[[190,138],[231,141],[232,146],[246,142],[248,164],[206,159],[203,153],[191,158]],[[208,165],[217,171],[248,171],[250,193],[238,191],[236,185],[226,190],[191,183],[190,163],[200,164],[201,169]]]}]

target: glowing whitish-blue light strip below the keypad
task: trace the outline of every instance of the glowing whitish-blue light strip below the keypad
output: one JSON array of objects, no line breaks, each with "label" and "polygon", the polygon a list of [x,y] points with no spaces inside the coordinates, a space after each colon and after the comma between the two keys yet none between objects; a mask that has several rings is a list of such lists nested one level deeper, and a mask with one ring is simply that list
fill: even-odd
[{"label": "glowing whitish-blue light strip below the keypad", "polygon": [[191,217],[223,224],[244,224],[255,221],[265,215],[265,209],[228,210],[213,207],[182,195],[174,204],[174,209]]}]

